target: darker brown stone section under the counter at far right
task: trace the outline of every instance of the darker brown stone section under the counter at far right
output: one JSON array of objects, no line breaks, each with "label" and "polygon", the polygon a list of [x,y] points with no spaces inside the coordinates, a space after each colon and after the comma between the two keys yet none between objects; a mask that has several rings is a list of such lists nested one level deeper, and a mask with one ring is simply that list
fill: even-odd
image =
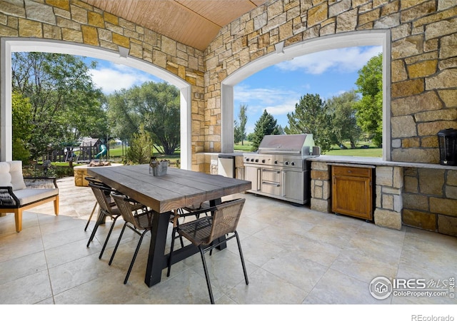
[{"label": "darker brown stone section under the counter at far right", "polygon": [[403,224],[457,236],[457,170],[405,168]]}]

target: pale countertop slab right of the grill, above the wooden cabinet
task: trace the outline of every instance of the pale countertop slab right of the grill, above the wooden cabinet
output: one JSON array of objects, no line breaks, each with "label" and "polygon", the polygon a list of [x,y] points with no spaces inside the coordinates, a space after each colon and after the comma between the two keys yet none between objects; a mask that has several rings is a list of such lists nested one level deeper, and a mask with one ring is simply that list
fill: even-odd
[{"label": "pale countertop slab right of the grill, above the wooden cabinet", "polygon": [[373,165],[373,166],[433,168],[433,169],[451,169],[451,170],[457,169],[456,166],[441,165],[441,164],[383,161],[383,159],[380,157],[378,158],[378,157],[321,155],[321,156],[317,156],[317,157],[307,158],[306,161],[323,162],[323,163],[337,163],[340,166]]}]

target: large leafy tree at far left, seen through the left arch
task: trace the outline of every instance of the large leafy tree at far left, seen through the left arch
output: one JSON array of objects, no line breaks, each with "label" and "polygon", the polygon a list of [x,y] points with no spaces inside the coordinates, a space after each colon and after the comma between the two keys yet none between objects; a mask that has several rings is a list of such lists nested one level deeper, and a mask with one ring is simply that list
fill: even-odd
[{"label": "large leafy tree at far left, seen through the left arch", "polygon": [[46,148],[89,136],[94,128],[106,132],[103,94],[81,58],[16,52],[11,67],[13,90],[31,103],[29,144],[33,158],[41,156]]}]

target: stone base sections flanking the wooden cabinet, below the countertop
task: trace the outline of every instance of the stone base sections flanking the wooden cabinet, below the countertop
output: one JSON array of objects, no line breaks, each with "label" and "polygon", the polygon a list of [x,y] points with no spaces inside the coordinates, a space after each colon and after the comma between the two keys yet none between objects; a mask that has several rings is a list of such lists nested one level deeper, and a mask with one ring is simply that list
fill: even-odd
[{"label": "stone base sections flanking the wooden cabinet, below the countertop", "polygon": [[[311,209],[331,213],[331,165],[311,163]],[[376,165],[376,225],[457,236],[457,168]]]}]

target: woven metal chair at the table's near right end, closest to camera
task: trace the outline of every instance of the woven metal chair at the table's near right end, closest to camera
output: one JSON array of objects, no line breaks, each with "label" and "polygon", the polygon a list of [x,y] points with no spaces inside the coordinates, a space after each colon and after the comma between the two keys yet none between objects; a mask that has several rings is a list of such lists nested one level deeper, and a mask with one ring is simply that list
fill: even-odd
[{"label": "woven metal chair at the table's near right end, closest to camera", "polygon": [[[236,232],[236,227],[241,216],[241,211],[243,210],[244,202],[244,198],[227,200],[220,205],[216,205],[214,209],[211,208],[211,210],[213,210],[213,214],[211,216],[204,216],[203,218],[198,218],[189,223],[182,223],[174,227],[174,229],[176,229],[176,233],[183,236],[199,248],[211,304],[214,304],[214,297],[213,291],[211,290],[208,267],[206,266],[205,253],[213,250],[222,243],[226,243],[232,238],[236,238],[236,242],[238,243],[238,251],[240,253],[241,265],[243,266],[244,280],[246,281],[246,285],[249,284],[246,265],[244,264],[243,252],[241,250],[241,243],[238,233]],[[173,250],[174,242],[172,240],[167,276],[170,275]]]}]

